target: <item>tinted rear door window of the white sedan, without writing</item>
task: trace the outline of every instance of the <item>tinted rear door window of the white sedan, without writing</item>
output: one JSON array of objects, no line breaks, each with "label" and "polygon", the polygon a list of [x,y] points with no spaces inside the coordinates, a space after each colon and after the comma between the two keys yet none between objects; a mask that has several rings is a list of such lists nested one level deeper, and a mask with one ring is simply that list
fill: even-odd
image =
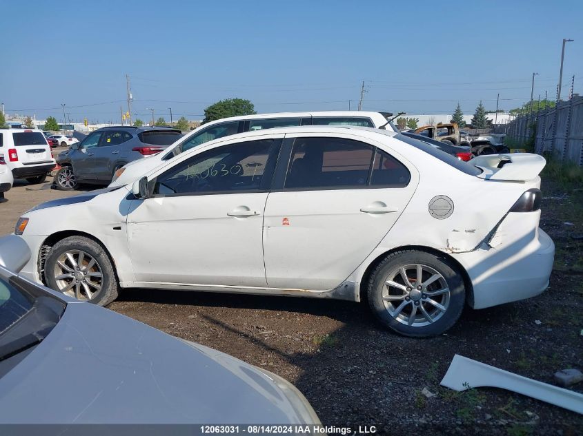
[{"label": "tinted rear door window of the white sedan, without writing", "polygon": [[297,138],[284,187],[404,187],[409,180],[402,163],[372,145],[344,138]]}]

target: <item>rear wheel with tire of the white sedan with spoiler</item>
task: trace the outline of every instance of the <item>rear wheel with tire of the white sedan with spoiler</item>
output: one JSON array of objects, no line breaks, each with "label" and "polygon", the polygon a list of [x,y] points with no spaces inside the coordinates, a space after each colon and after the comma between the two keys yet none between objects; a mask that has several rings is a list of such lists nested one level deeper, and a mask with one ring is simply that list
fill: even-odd
[{"label": "rear wheel with tire of the white sedan with spoiler", "polygon": [[464,282],[453,262],[424,251],[392,253],[368,282],[377,318],[406,336],[444,333],[460,318],[464,301]]}]

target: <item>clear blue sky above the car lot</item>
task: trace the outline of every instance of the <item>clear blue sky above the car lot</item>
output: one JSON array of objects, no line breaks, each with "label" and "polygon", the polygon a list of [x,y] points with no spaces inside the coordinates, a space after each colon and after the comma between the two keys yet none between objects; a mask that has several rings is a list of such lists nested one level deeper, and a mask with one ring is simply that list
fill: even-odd
[{"label": "clear blue sky above the car lot", "polygon": [[[451,6],[447,6],[450,4]],[[258,112],[355,109],[471,114],[583,90],[582,1],[0,0],[6,112],[119,121],[201,118],[222,98]],[[108,104],[96,104],[113,102]],[[182,102],[182,103],[181,103]],[[75,107],[88,105],[86,107]],[[56,108],[56,109],[52,109]],[[134,116],[135,118],[135,116]]]}]

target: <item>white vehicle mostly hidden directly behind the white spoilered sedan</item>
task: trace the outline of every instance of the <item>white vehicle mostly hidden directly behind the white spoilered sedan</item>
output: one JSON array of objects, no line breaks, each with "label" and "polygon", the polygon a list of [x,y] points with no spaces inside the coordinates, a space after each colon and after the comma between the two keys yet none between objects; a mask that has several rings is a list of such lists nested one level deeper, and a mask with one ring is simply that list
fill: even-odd
[{"label": "white vehicle mostly hidden directly behind the white spoilered sedan", "polygon": [[329,111],[329,112],[279,112],[276,114],[256,114],[222,118],[201,125],[186,135],[168,152],[148,159],[129,163],[115,172],[110,186],[132,183],[164,161],[177,156],[192,147],[198,147],[213,139],[223,138],[240,132],[257,132],[275,127],[298,125],[355,125],[377,127],[398,132],[397,127],[387,120],[393,114],[388,112]]}]

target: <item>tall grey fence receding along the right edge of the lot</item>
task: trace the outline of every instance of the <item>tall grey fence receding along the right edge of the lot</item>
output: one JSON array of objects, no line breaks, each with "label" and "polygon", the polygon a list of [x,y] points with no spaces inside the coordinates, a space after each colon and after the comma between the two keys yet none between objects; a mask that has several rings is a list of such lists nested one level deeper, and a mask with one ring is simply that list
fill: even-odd
[{"label": "tall grey fence receding along the right edge of the lot", "polygon": [[522,114],[497,132],[517,143],[533,143],[538,154],[549,152],[565,162],[583,166],[583,97],[573,96],[556,107]]}]

